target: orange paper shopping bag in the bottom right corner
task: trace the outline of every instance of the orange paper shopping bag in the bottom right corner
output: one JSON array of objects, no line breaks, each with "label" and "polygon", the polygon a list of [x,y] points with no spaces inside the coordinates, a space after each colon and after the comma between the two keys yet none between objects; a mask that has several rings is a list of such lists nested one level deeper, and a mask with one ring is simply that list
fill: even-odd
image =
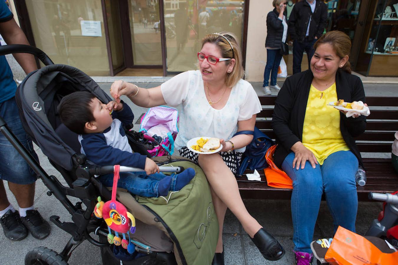
[{"label": "orange paper shopping bag in the bottom right corner", "polygon": [[339,226],[325,260],[334,265],[396,265],[398,251],[383,253],[363,236]]}]

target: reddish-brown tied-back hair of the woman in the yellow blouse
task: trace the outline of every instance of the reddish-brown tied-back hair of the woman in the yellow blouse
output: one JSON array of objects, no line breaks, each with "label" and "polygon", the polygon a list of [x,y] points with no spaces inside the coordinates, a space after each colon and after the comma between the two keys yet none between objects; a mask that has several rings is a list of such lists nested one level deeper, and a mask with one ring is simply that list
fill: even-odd
[{"label": "reddish-brown tied-back hair of the woman in the yellow blouse", "polygon": [[[314,44],[314,50],[319,46],[319,44],[328,43],[332,45],[334,52],[336,52],[337,56],[343,58],[344,56],[349,56],[351,51],[351,39],[348,37],[347,34],[341,31],[329,31],[322,35],[318,41]],[[349,61],[341,67],[342,70],[351,74],[351,65]]]}]

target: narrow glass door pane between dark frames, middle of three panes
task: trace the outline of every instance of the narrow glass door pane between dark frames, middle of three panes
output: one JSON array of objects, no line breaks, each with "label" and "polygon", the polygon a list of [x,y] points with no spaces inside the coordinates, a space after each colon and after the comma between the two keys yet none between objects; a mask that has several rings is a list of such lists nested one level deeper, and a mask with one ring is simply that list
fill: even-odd
[{"label": "narrow glass door pane between dark frames, middle of three panes", "polygon": [[162,65],[158,0],[129,0],[131,44],[135,65]]}]

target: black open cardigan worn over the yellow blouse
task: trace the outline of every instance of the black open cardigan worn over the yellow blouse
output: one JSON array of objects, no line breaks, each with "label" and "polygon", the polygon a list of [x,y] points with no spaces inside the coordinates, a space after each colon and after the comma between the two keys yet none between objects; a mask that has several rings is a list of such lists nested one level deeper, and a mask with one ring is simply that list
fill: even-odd
[{"label": "black open cardigan worn over the yellow blouse", "polygon": [[[291,147],[297,141],[302,141],[302,128],[312,79],[313,75],[310,70],[288,77],[276,99],[272,128],[277,135],[278,143],[274,162],[279,168],[281,168],[285,157],[291,152]],[[365,91],[361,79],[341,69],[336,74],[336,92],[338,99],[344,99],[345,102],[365,102]],[[365,128],[365,116],[347,118],[340,113],[341,135],[362,166],[361,154],[353,137],[363,133]]]}]

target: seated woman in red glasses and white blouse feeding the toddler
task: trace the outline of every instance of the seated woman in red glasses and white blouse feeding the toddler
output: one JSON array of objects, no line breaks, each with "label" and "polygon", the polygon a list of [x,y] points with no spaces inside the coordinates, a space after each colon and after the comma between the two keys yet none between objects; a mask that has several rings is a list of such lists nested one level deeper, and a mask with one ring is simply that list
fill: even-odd
[{"label": "seated woman in red glasses and white blouse feeding the toddler", "polygon": [[[261,111],[252,85],[242,79],[242,54],[236,37],[231,33],[206,35],[197,56],[199,70],[183,72],[150,89],[115,81],[111,95],[116,101],[120,101],[121,95],[127,95],[133,103],[146,108],[163,104],[182,106],[175,146],[180,155],[199,163],[205,172],[219,220],[219,240],[212,264],[224,264],[222,227],[227,207],[265,259],[278,260],[285,251],[248,213],[234,176],[246,145],[253,139],[253,135],[234,134],[253,131],[256,114]],[[197,136],[219,138],[221,151],[198,155],[188,150],[187,142]]]}]

